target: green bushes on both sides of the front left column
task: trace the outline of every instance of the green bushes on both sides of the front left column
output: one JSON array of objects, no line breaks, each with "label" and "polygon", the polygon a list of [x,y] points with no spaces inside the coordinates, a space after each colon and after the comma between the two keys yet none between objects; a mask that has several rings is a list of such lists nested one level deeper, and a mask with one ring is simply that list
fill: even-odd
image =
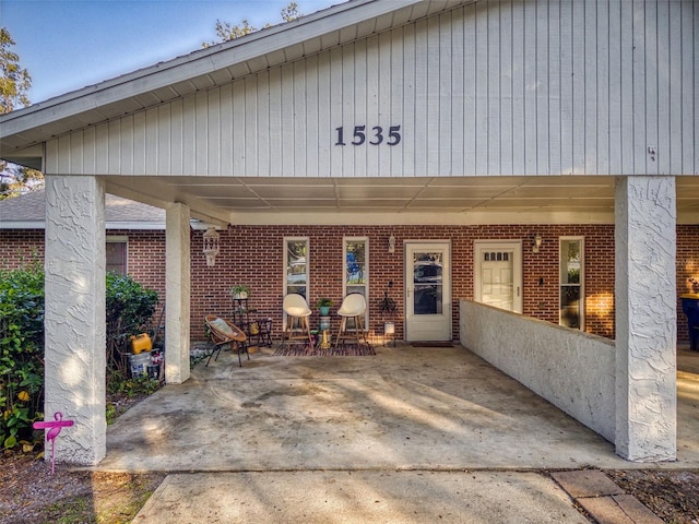
[{"label": "green bushes on both sides of the front left column", "polygon": [[[130,276],[107,275],[107,391],[150,394],[157,381],[129,380],[125,354],[129,336],[144,331],[157,294]],[[44,419],[44,269],[34,262],[0,270],[0,445],[43,441],[33,422]],[[36,439],[34,436],[36,434]]]}]

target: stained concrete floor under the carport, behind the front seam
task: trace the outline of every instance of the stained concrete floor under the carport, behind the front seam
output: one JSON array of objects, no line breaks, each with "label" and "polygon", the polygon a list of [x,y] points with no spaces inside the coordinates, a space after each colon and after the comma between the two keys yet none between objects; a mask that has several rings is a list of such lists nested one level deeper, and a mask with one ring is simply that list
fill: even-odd
[{"label": "stained concrete floor under the carport, behind the front seam", "polygon": [[[695,357],[691,352],[688,357]],[[699,354],[697,354],[699,356]],[[699,358],[697,358],[699,361]],[[699,467],[699,377],[679,373],[678,460]],[[641,467],[461,346],[199,364],[109,428],[100,469]],[[648,465],[645,465],[647,467]]]}]

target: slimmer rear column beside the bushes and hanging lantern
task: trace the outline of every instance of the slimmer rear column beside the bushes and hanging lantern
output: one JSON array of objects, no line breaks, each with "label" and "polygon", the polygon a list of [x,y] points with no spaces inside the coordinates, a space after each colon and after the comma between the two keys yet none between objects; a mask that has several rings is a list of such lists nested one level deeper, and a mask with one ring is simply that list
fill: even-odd
[{"label": "slimmer rear column beside the bushes and hanging lantern", "polygon": [[190,374],[189,207],[170,204],[165,215],[165,380],[170,384],[181,384]]}]

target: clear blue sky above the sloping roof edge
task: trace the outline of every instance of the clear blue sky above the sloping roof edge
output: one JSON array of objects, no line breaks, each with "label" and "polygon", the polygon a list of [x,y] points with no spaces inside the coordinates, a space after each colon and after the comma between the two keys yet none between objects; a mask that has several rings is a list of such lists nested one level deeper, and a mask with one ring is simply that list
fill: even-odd
[{"label": "clear blue sky above the sloping roof edge", "polygon": [[[301,14],[345,0],[296,0]],[[202,48],[216,20],[282,22],[288,0],[0,0],[32,104]]]}]

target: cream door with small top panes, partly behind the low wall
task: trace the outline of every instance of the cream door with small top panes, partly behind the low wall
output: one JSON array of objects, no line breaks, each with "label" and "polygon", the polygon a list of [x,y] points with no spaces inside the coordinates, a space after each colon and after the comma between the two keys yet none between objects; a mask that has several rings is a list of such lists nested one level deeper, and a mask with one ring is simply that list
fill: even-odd
[{"label": "cream door with small top panes, partly behind the low wall", "polygon": [[522,243],[476,241],[475,299],[517,313],[522,312]]}]

